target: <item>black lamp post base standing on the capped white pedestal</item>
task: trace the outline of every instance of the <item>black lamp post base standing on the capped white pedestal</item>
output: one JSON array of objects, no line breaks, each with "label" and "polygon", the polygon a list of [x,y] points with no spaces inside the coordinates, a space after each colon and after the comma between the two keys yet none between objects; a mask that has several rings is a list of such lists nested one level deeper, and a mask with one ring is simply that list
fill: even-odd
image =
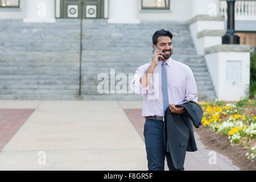
[{"label": "black lamp post base standing on the capped white pedestal", "polygon": [[222,36],[222,44],[240,44],[240,37],[234,30],[234,3],[236,0],[226,0],[228,3],[228,22],[226,34]]}]

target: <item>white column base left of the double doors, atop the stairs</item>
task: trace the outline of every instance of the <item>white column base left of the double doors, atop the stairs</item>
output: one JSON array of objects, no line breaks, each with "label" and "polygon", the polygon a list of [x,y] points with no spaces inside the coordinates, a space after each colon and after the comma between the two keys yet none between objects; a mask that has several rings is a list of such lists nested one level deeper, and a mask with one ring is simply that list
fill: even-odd
[{"label": "white column base left of the double doors, atop the stairs", "polygon": [[55,1],[53,0],[26,0],[26,18],[23,22],[55,22]]}]

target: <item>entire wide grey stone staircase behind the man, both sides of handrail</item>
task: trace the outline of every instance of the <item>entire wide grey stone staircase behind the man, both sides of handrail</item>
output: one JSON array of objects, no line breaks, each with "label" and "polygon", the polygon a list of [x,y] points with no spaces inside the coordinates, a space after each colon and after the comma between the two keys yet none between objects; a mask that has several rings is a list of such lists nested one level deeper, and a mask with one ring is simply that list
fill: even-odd
[{"label": "entire wide grey stone staircase behind the man, both sides of handrail", "polygon": [[[152,35],[167,29],[174,35],[172,58],[191,67],[199,100],[216,98],[204,56],[196,49],[185,22],[142,21],[141,24],[109,24],[86,19],[82,36],[82,87],[79,94],[80,21],[22,23],[0,20],[0,99],[29,100],[142,100],[128,93],[129,73],[152,57]],[[127,93],[98,93],[99,74],[127,77]],[[112,70],[113,71],[113,70]],[[115,80],[117,84],[120,80]]]}]

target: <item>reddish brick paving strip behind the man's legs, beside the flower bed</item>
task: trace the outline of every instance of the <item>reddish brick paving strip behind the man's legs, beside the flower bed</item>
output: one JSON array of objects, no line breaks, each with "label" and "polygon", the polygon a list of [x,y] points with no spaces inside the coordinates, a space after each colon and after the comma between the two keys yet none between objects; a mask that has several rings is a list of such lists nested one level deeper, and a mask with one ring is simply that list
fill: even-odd
[{"label": "reddish brick paving strip behind the man's legs, beside the flower bed", "polygon": [[[143,129],[144,129],[144,118],[141,116],[142,109],[124,109],[127,117],[129,117],[131,123],[137,130],[139,136],[144,142]],[[204,144],[200,141],[199,135],[196,133],[194,127],[197,151],[187,152],[185,157],[184,169],[186,171],[235,171],[239,170],[237,166],[232,164],[232,161],[229,160],[226,156],[216,152],[216,164],[209,164],[209,158],[213,156],[215,151],[210,152]],[[146,150],[145,150],[146,152]],[[210,152],[210,153],[209,153]],[[165,170],[168,170],[167,163],[165,160]]]}]

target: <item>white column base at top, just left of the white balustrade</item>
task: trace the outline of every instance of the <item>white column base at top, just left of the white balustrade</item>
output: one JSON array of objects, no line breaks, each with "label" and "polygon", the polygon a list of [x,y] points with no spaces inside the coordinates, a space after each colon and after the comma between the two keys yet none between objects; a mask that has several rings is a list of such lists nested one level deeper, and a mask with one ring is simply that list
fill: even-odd
[{"label": "white column base at top, just left of the white balustrade", "polygon": [[220,14],[220,0],[192,0],[192,17]]}]

